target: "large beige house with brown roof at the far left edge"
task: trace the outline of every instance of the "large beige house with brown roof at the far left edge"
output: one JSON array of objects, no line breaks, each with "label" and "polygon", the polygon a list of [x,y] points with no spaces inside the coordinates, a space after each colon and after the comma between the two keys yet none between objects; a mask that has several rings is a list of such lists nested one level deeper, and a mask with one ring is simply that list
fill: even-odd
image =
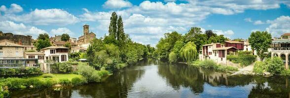
[{"label": "large beige house with brown roof at the far left edge", "polygon": [[0,68],[39,67],[37,58],[24,58],[24,46],[0,40]]}]

